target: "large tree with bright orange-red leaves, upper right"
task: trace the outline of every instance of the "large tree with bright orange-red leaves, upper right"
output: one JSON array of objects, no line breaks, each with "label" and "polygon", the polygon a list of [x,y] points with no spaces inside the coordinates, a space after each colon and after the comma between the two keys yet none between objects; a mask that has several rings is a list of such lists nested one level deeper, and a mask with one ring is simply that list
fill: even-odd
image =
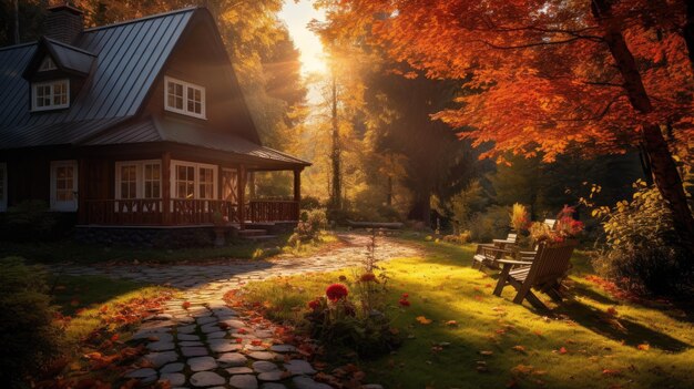
[{"label": "large tree with bright orange-red leaves, upper right", "polygon": [[[367,27],[371,42],[431,79],[480,93],[436,117],[461,137],[553,161],[641,145],[654,183],[694,248],[694,218],[663,136],[692,139],[692,66],[684,1],[336,1],[335,31]],[[690,20],[691,21],[691,20]]]}]

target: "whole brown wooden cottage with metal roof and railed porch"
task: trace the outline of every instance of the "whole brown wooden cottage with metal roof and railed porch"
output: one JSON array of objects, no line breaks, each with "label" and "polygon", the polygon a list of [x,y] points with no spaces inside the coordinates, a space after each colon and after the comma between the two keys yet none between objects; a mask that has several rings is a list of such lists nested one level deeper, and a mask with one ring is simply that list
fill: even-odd
[{"label": "whole brown wooden cottage with metal roof and railed porch", "polygon": [[[42,199],[90,231],[290,223],[308,165],[262,145],[205,8],[83,29],[59,6],[38,42],[0,48],[0,212]],[[263,171],[294,172],[294,197],[254,199]]]}]

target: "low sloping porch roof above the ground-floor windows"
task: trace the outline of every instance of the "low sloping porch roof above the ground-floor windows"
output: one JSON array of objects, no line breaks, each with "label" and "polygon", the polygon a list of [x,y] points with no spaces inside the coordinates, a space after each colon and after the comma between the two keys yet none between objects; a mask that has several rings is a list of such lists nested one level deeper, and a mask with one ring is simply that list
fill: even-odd
[{"label": "low sloping porch roof above the ground-floor windows", "polygon": [[271,147],[261,146],[232,133],[213,132],[190,122],[169,119],[149,117],[126,126],[119,126],[118,131],[108,131],[79,144],[109,145],[146,142],[173,142],[271,160],[277,163],[310,165],[309,162]]}]

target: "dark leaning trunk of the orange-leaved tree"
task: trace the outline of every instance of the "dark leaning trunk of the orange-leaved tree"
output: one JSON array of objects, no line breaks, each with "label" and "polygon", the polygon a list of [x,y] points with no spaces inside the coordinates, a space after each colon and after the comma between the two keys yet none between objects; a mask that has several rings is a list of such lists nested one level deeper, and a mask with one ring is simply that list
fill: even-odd
[{"label": "dark leaning trunk of the orange-leaved tree", "polygon": [[[622,74],[629,101],[639,113],[653,112],[653,104],[651,104],[643,85],[636,61],[626,45],[618,24],[619,20],[612,17],[611,2],[609,0],[592,0],[591,7],[595,20],[605,31],[604,40]],[[675,232],[685,247],[694,252],[694,217],[687,205],[682,177],[680,177],[677,166],[659,125],[643,124],[642,145],[651,163],[655,186],[672,212]]]}]

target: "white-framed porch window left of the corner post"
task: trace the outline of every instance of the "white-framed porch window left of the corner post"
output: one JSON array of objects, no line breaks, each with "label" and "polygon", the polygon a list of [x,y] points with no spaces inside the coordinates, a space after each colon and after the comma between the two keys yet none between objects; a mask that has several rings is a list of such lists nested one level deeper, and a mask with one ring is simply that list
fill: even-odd
[{"label": "white-framed porch window left of the corner post", "polygon": [[161,198],[162,162],[122,161],[115,163],[115,198]]}]

